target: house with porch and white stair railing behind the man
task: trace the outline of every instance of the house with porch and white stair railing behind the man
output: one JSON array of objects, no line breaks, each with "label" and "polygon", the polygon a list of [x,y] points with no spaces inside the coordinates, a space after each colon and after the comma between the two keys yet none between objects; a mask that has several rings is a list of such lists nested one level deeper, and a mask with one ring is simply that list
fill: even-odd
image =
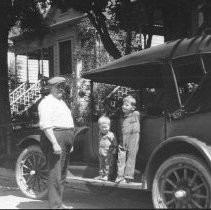
[{"label": "house with porch and white stair railing behind the man", "polygon": [[11,112],[20,105],[27,109],[41,95],[41,79],[70,75],[77,80],[81,63],[74,57],[79,42],[77,24],[85,15],[69,9],[51,7],[45,17],[49,32],[42,38],[13,36],[14,73],[21,84],[10,93]]}]

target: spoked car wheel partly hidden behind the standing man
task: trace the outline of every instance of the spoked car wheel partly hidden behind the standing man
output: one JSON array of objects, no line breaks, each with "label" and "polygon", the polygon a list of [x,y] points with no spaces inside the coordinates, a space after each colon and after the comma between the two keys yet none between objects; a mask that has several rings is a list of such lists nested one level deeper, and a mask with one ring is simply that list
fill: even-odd
[{"label": "spoked car wheel partly hidden behind the standing man", "polygon": [[16,162],[16,182],[24,195],[32,199],[47,196],[47,164],[38,145],[25,148]]}]

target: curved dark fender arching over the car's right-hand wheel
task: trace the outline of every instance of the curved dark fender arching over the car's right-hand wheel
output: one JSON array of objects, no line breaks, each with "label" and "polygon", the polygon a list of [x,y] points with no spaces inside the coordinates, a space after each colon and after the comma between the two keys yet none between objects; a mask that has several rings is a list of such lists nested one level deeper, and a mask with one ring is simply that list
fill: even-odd
[{"label": "curved dark fender arching over the car's right-hand wheel", "polygon": [[[143,174],[145,188],[151,189],[156,170],[168,157],[176,154],[193,154],[211,166],[211,147],[191,136],[175,136],[160,143],[150,155]],[[211,168],[210,168],[211,169]]]}]

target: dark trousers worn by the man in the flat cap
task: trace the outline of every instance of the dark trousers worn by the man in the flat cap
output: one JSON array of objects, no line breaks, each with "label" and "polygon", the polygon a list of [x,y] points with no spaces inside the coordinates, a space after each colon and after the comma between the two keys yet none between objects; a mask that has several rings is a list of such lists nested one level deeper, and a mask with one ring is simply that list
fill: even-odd
[{"label": "dark trousers worn by the man in the flat cap", "polygon": [[41,148],[46,156],[48,165],[48,204],[51,209],[59,209],[62,206],[62,196],[67,175],[67,167],[70,157],[70,149],[73,146],[72,130],[54,130],[54,135],[62,149],[61,155],[53,153],[51,142],[41,135]]}]

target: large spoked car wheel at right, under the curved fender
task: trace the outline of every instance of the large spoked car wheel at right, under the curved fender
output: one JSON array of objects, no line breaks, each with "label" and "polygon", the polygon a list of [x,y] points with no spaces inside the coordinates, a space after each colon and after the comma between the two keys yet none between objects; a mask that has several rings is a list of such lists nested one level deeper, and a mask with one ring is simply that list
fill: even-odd
[{"label": "large spoked car wheel at right, under the curved fender", "polygon": [[158,168],[152,184],[155,208],[210,208],[210,169],[192,155],[175,155]]}]

